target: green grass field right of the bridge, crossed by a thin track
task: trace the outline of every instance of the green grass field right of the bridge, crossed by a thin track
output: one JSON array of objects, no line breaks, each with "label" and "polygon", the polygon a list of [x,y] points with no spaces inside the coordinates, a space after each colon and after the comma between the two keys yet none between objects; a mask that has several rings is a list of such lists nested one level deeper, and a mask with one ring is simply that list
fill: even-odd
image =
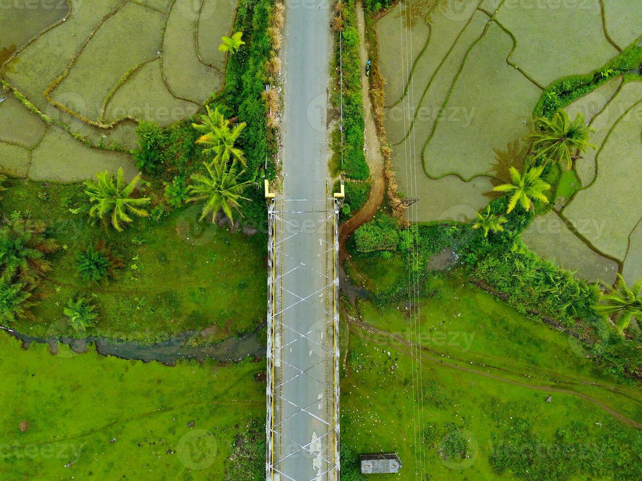
[{"label": "green grass field right of the bridge, crossed by a thin track", "polygon": [[[630,425],[642,415],[637,387],[464,278],[431,280],[428,292],[417,325],[405,303],[361,301],[343,316],[345,451],[396,451],[398,479],[640,476],[642,433]],[[409,342],[417,339],[419,365]],[[360,479],[355,469],[344,464],[343,475]]]}]

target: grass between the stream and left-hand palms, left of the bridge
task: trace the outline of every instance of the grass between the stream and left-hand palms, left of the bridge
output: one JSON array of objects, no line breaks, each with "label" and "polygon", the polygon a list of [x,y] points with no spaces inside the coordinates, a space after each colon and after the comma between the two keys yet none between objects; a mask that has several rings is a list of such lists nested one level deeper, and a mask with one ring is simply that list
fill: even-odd
[{"label": "grass between the stream and left-hand palms, left of the bridge", "polygon": [[[125,232],[92,223],[82,208],[87,197],[78,184],[12,180],[0,203],[8,213],[30,211],[49,224],[60,246],[33,309],[35,319],[14,327],[32,335],[71,333],[63,308],[76,294],[98,306],[98,331],[107,337],[153,341],[174,333],[212,327],[209,342],[257,328],[265,316],[266,243],[227,227],[198,223],[201,207],[191,205],[160,221],[136,219]],[[39,195],[41,196],[39,198]],[[34,200],[35,199],[35,200]],[[76,255],[106,241],[123,266],[113,280],[83,280]]]}]

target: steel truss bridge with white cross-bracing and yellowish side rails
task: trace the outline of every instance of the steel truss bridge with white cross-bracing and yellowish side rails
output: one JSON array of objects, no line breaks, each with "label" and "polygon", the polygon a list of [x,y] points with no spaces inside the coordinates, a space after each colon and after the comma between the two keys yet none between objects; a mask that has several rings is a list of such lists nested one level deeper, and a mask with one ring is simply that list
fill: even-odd
[{"label": "steel truss bridge with white cross-bracing and yellowish side rails", "polygon": [[[343,190],[343,189],[342,189]],[[339,478],[338,213],[268,193],[268,481]]]}]

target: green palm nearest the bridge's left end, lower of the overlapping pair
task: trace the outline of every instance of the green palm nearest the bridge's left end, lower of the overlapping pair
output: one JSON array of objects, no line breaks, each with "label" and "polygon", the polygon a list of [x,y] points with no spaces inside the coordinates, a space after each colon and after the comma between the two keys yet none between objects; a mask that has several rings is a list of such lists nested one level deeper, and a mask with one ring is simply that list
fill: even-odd
[{"label": "green palm nearest the bridge's left end, lower of the overlapping pair", "polygon": [[191,194],[191,201],[205,201],[203,212],[200,219],[204,219],[207,215],[212,216],[219,210],[223,210],[227,217],[233,219],[232,208],[238,210],[239,200],[248,200],[241,196],[245,187],[252,183],[251,181],[239,182],[239,177],[245,171],[238,172],[236,169],[236,162],[228,167],[225,162],[214,160],[214,162],[203,162],[207,175],[193,174],[191,179],[192,185],[187,189]]}]

